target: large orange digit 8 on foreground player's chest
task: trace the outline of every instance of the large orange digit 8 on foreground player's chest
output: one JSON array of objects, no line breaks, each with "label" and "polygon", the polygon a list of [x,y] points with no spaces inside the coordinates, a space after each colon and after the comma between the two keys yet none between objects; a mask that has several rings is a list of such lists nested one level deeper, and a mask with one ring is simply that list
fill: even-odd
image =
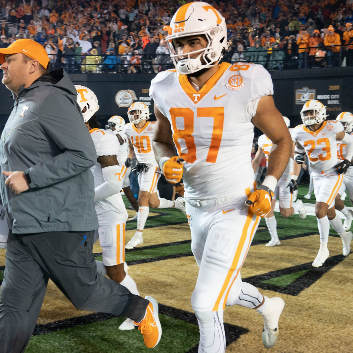
[{"label": "large orange digit 8 on foreground player's chest", "polygon": [[[194,113],[190,108],[170,108],[170,117],[173,125],[173,140],[177,146],[179,156],[184,158],[185,162],[193,163],[196,161],[196,146],[195,140],[192,136],[194,132]],[[176,119],[180,117],[184,120],[184,129],[178,129]],[[181,147],[178,139],[185,141],[187,153],[181,153]]]}]

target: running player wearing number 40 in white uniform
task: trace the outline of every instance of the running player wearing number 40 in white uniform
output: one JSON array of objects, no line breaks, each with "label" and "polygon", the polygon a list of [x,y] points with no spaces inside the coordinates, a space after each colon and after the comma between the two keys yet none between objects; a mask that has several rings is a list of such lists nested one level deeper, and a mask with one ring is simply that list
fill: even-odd
[{"label": "running player wearing number 40 in white uniform", "polygon": [[128,108],[127,116],[130,123],[124,126],[123,132],[129,141],[126,168],[130,167],[131,159],[136,155],[137,165],[132,172],[138,175],[138,214],[137,229],[131,240],[125,245],[126,249],[143,244],[143,229],[149,214],[149,208],[178,208],[185,215],[185,206],[182,197],[175,201],[158,198],[157,183],[160,177],[158,163],[152,149],[152,137],[156,122],[148,121],[150,117],[149,107],[143,102],[134,102]]}]

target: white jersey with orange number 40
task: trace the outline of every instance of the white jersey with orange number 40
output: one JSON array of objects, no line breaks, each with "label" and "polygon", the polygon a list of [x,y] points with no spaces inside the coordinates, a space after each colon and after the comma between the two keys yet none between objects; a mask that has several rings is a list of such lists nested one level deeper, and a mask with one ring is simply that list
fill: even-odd
[{"label": "white jersey with orange number 40", "polygon": [[155,126],[155,121],[146,121],[145,126],[139,130],[135,124],[130,122],[122,130],[133,144],[133,150],[139,163],[158,165],[152,149]]}]

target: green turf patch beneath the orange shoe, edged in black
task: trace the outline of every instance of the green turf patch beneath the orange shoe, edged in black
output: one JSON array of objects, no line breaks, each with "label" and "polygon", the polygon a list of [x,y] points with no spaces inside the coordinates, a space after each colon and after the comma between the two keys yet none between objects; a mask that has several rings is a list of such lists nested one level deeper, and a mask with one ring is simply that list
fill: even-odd
[{"label": "green turf patch beneath the orange shoe, edged in black", "polygon": [[[197,325],[159,315],[162,337],[154,353],[185,353],[199,341]],[[26,353],[143,353],[151,352],[138,329],[118,330],[125,318],[80,325],[33,336]]]}]

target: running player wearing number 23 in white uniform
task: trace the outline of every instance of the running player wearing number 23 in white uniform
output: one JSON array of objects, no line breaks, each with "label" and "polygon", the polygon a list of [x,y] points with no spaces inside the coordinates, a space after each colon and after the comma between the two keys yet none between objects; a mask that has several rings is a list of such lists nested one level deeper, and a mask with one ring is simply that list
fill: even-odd
[{"label": "running player wearing number 23 in white uniform", "polygon": [[[337,120],[325,120],[326,107],[317,100],[307,101],[300,112],[302,125],[293,130],[295,141],[294,160],[304,162],[304,154],[309,158],[311,175],[316,197],[315,214],[320,233],[320,249],[312,263],[320,267],[329,257],[327,243],[330,223],[340,235],[343,244],[343,255],[351,251],[352,232],[346,232],[342,221],[335,212],[335,197],[340,190],[343,175],[348,170],[353,157],[353,139],[343,130]],[[345,159],[337,158],[337,141],[346,144]]]}]

